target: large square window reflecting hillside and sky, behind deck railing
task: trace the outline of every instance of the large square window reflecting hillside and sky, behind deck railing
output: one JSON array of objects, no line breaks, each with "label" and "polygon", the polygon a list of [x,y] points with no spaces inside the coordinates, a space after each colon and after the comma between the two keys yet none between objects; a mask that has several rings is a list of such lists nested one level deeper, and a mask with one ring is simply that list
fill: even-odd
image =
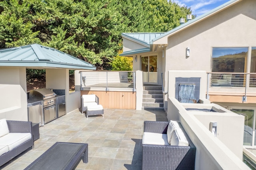
[{"label": "large square window reflecting hillside and sky, behind deck railing", "polygon": [[248,47],[213,47],[212,86],[244,87],[247,60]]}]

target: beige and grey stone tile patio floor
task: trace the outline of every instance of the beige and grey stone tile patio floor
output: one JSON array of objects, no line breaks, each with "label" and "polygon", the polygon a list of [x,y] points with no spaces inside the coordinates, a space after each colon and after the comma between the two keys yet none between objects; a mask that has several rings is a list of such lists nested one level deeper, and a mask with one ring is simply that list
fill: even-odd
[{"label": "beige and grey stone tile patio floor", "polygon": [[0,169],[22,170],[55,142],[88,143],[88,163],[76,170],[141,170],[144,121],[168,121],[164,111],[104,109],[88,120],[73,111],[39,128],[40,138]]}]

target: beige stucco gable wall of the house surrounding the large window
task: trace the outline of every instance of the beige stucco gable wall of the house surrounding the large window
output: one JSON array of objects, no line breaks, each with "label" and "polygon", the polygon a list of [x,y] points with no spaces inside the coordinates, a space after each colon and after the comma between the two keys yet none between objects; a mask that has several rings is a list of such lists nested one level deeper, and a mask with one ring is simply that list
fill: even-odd
[{"label": "beige stucco gable wall of the house surrounding the large window", "polygon": [[[256,46],[255,8],[256,3],[253,0],[243,0],[170,36],[166,47],[166,63],[162,63],[162,67],[166,70],[165,77],[168,77],[167,70],[211,72],[212,47],[249,47],[248,61],[250,61],[251,47]],[[189,57],[186,57],[186,47],[190,48]],[[210,100],[215,102],[221,99],[222,95],[232,98],[234,95],[230,95],[231,93],[240,93],[237,99],[232,101],[242,103],[244,95],[244,88],[212,87],[209,91]],[[247,93],[252,96],[248,97],[247,103],[256,103],[255,88],[247,89]]]}]

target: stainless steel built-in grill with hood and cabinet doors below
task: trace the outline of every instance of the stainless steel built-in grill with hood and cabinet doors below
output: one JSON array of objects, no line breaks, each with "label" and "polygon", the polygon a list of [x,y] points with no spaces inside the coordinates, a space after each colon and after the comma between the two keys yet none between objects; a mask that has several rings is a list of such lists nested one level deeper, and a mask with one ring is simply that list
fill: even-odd
[{"label": "stainless steel built-in grill with hood and cabinet doors below", "polygon": [[53,91],[50,89],[30,90],[29,99],[39,99],[43,101],[44,124],[57,118],[56,94]]}]

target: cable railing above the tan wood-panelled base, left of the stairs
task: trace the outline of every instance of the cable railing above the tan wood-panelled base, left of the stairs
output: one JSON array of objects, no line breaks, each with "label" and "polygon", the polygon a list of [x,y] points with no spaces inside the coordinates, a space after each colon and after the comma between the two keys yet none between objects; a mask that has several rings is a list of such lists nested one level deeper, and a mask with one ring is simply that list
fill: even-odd
[{"label": "cable railing above the tan wood-panelled base, left of the stairs", "polygon": [[80,71],[81,90],[88,88],[132,89],[136,91],[136,71]]}]

